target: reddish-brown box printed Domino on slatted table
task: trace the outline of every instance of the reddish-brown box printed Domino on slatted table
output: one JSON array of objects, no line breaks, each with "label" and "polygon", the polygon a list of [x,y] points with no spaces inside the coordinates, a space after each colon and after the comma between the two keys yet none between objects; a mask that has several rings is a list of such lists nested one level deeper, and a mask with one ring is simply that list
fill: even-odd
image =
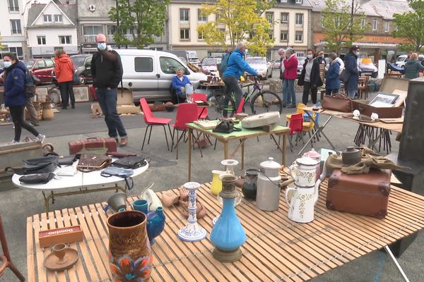
[{"label": "reddish-brown box printed Domino on slatted table", "polygon": [[75,243],[82,240],[83,229],[79,225],[50,229],[38,233],[40,247],[49,247],[59,243]]}]

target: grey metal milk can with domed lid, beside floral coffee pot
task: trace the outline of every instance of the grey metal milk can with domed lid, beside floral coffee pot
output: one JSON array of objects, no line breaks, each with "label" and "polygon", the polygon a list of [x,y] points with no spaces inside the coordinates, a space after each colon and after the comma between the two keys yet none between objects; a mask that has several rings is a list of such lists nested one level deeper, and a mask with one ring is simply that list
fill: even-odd
[{"label": "grey metal milk can with domed lid, beside floral coffee pot", "polygon": [[280,167],[273,158],[260,164],[258,176],[257,208],[263,211],[276,211],[280,203]]}]

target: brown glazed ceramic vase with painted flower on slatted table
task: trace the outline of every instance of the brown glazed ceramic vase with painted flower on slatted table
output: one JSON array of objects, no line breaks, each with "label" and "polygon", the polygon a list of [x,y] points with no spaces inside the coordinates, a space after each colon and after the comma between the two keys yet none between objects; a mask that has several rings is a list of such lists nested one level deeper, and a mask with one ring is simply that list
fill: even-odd
[{"label": "brown glazed ceramic vase with painted flower on slatted table", "polygon": [[113,281],[149,280],[153,256],[146,222],[146,215],[138,211],[117,212],[107,219]]}]

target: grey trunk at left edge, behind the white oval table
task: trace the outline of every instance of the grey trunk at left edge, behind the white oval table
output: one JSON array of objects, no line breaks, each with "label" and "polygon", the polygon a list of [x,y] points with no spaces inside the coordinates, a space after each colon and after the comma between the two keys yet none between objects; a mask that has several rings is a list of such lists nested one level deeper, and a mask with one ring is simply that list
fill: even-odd
[{"label": "grey trunk at left edge, behind the white oval table", "polygon": [[11,166],[21,168],[23,159],[42,157],[42,145],[39,141],[5,143],[0,145],[0,173]]}]

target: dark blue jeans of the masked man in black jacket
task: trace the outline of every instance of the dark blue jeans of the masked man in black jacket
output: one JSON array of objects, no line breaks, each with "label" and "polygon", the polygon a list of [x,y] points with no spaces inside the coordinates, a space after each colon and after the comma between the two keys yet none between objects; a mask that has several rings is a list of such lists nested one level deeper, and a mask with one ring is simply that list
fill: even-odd
[{"label": "dark blue jeans of the masked man in black jacket", "polygon": [[126,137],[126,131],[117,112],[117,89],[96,89],[95,94],[102,112],[105,115],[105,122],[109,130],[110,137]]}]

